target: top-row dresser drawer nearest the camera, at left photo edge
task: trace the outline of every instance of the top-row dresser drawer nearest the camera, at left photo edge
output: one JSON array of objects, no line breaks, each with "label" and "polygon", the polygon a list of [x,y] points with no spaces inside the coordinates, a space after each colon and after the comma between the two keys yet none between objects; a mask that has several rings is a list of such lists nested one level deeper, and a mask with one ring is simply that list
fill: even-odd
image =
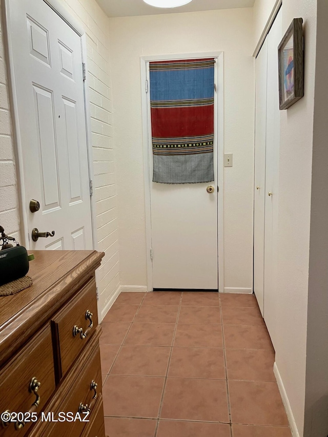
[{"label": "top-row dresser drawer nearest the camera, at left photo edge", "polygon": [[[0,424],[1,436],[22,436],[55,389],[50,325],[46,326],[0,371],[0,413],[20,412],[18,421]],[[29,416],[28,412],[34,413]],[[7,426],[4,426],[7,425]],[[18,428],[18,429],[17,429]]]}]

